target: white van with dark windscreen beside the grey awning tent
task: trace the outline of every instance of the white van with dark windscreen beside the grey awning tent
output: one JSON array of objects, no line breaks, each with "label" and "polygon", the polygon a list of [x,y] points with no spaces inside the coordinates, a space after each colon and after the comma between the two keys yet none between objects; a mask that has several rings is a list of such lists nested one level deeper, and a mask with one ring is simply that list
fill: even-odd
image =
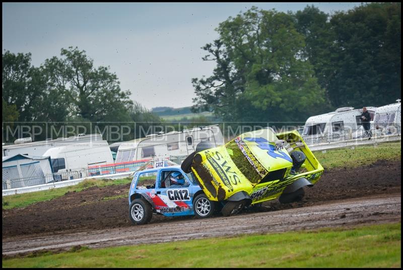
[{"label": "white van with dark windscreen beside the grey awning tent", "polygon": [[55,173],[72,172],[72,175],[63,174],[63,180],[64,175],[71,179],[88,176],[88,166],[113,163],[107,141],[53,147],[44,156],[50,156]]}]

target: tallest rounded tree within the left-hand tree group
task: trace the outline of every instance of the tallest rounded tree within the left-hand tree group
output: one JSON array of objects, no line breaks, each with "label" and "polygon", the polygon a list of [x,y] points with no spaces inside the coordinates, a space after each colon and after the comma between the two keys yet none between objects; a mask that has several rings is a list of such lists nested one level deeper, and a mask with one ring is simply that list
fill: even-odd
[{"label": "tallest rounded tree within the left-hand tree group", "polygon": [[128,121],[130,91],[122,91],[109,67],[95,67],[85,51],[61,49],[61,58],[46,59],[42,71],[55,93],[68,101],[68,116],[88,121]]}]

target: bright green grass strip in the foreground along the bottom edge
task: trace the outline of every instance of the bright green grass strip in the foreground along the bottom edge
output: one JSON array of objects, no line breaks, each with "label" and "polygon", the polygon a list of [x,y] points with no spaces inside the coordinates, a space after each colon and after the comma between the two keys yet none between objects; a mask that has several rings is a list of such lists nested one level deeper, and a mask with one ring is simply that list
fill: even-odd
[{"label": "bright green grass strip in the foreground along the bottom edge", "polygon": [[208,238],[3,259],[3,267],[400,267],[401,226]]}]

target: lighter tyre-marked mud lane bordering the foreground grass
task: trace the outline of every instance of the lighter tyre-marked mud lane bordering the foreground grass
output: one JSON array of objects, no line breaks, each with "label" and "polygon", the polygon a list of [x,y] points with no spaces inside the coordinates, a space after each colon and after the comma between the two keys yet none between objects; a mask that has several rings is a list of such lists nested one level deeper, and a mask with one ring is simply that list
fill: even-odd
[{"label": "lighter tyre-marked mud lane bordering the foreground grass", "polygon": [[[87,230],[3,241],[3,256],[75,246],[102,248],[171,242],[206,237],[265,234],[318,228],[351,227],[401,221],[401,196],[375,195],[331,201],[323,205],[233,217],[162,222],[108,230]],[[178,234],[177,228],[181,228]]]}]

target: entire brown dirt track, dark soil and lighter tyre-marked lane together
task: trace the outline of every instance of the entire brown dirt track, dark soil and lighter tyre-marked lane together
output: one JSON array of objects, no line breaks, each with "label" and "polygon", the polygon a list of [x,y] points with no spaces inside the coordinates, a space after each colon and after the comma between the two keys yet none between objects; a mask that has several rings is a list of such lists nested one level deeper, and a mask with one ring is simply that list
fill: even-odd
[{"label": "entire brown dirt track, dark soil and lighter tyre-marked lane together", "polygon": [[[222,228],[228,226],[231,234],[239,234],[395,222],[401,220],[400,176],[400,161],[326,170],[314,187],[306,189],[299,203],[280,205],[275,200],[266,202],[259,213],[207,220],[154,215],[151,224],[144,226],[132,226],[128,219],[128,185],[94,187],[3,211],[3,255],[75,245],[101,247],[219,236],[226,235]],[[124,197],[102,200],[117,195]],[[169,236],[172,223],[189,228],[188,236]],[[125,240],[133,238],[136,242]]]}]

